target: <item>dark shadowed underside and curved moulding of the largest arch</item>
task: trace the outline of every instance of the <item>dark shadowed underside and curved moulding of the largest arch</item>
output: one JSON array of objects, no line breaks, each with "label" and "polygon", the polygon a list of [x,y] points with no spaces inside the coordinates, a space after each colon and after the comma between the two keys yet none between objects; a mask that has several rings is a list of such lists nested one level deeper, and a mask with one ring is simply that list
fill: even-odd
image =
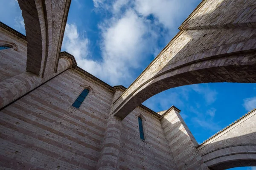
[{"label": "dark shadowed underside and curved moulding of the largest arch", "polygon": [[202,60],[157,75],[123,100],[115,116],[124,119],[145,100],[170,88],[209,82],[256,83],[256,52]]}]

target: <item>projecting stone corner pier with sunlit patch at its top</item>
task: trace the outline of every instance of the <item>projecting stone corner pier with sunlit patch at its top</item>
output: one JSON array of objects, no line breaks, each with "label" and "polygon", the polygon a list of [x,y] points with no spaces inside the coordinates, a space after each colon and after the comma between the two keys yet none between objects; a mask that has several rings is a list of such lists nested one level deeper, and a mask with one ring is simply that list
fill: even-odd
[{"label": "projecting stone corner pier with sunlit patch at its top", "polygon": [[198,143],[175,106],[162,113],[160,122],[177,170],[208,169],[196,146]]}]

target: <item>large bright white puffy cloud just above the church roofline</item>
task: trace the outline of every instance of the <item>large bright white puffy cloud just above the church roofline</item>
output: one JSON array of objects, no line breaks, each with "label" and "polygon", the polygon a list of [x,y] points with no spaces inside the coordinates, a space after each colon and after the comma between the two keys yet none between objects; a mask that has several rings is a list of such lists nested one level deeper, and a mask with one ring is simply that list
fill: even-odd
[{"label": "large bright white puffy cloud just above the church roofline", "polygon": [[121,18],[112,18],[99,26],[102,30],[102,59],[90,58],[89,40],[79,34],[75,24],[67,24],[62,48],[73,54],[79,67],[112,85],[132,81],[133,69],[140,66],[149,51],[145,34],[150,34],[146,23],[134,11]]}]

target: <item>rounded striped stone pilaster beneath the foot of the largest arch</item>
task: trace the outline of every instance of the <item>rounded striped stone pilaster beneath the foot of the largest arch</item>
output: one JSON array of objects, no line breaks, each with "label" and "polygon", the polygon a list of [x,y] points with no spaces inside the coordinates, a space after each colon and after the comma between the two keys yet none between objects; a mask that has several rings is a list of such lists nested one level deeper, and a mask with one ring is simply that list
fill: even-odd
[{"label": "rounded striped stone pilaster beneath the foot of the largest arch", "polygon": [[[113,102],[122,94],[122,90],[115,91]],[[110,114],[112,110],[110,111]],[[102,142],[97,170],[118,170],[121,144],[122,120],[110,115]]]}]

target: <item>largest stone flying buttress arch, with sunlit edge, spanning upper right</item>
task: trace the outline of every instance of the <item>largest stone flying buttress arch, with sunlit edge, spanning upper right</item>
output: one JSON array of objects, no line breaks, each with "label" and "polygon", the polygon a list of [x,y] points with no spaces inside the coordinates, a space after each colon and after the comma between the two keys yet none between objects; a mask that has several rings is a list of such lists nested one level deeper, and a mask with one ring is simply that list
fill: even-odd
[{"label": "largest stone flying buttress arch, with sunlit edge, spanning upper right", "polygon": [[[255,83],[256,20],[244,11],[253,4],[253,0],[246,3],[241,0],[202,1],[180,27],[181,31],[113,103],[113,115],[124,119],[146,99],[178,86],[209,82]],[[222,20],[225,14],[221,12],[242,5],[244,8],[237,10],[228,21]],[[244,14],[244,23],[233,24],[241,14]],[[202,16],[202,26],[194,26],[201,22]]]}]

